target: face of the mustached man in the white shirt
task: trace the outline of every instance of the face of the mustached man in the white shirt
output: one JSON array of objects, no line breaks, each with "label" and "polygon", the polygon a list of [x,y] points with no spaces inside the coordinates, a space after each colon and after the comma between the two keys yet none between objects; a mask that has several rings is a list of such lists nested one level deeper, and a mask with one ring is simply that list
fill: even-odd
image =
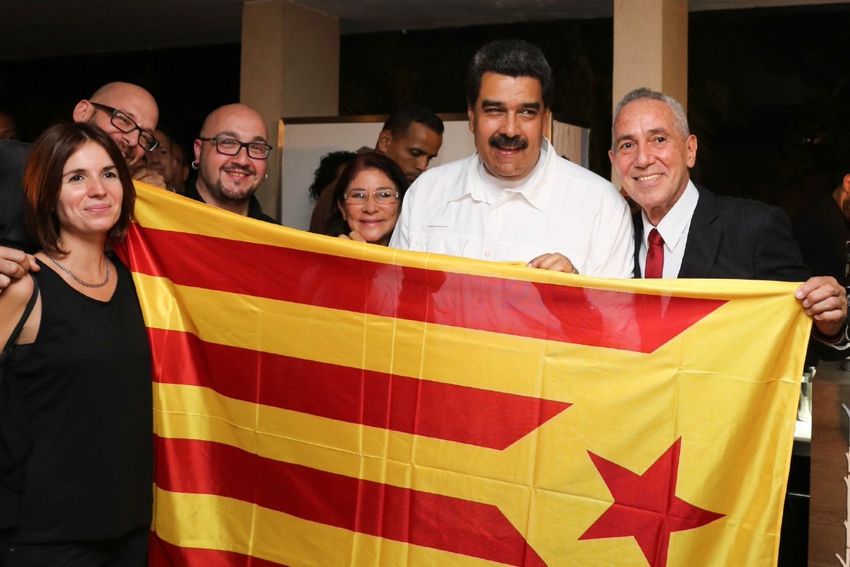
[{"label": "face of the mustached man in the white shirt", "polygon": [[514,181],[534,170],[549,116],[539,79],[484,73],[475,108],[467,113],[490,175]]}]

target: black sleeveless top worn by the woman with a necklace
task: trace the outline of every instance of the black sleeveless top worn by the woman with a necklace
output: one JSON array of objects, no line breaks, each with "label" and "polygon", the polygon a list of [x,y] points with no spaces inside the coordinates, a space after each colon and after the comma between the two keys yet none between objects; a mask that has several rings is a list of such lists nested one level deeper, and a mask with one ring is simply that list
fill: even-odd
[{"label": "black sleeveless top worn by the woman with a necklace", "polygon": [[110,260],[118,282],[108,301],[39,262],[38,336],[8,366],[32,437],[14,542],[108,539],[150,524],[150,345],[132,276]]}]

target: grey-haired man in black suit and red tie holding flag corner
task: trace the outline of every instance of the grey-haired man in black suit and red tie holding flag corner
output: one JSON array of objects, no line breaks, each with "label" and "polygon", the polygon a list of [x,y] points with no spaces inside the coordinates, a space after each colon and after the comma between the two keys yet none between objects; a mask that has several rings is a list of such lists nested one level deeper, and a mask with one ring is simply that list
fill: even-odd
[{"label": "grey-haired man in black suit and red tie holding flag corner", "polygon": [[[691,182],[696,149],[675,99],[640,88],[617,104],[609,158],[623,188],[642,208],[635,216],[635,277],[808,278],[785,213],[715,195]],[[813,317],[818,340],[837,348],[850,345],[847,297],[835,278],[808,278],[795,296]]]}]

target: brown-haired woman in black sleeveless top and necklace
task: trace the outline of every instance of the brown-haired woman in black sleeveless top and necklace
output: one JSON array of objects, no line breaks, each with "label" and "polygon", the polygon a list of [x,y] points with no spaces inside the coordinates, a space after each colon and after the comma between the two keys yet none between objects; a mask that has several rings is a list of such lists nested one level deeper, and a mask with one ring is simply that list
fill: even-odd
[{"label": "brown-haired woman in black sleeveless top and necklace", "polygon": [[109,250],[130,227],[133,182],[109,135],[79,122],[38,138],[24,188],[41,270],[0,294],[0,342],[24,321],[0,383],[0,565],[143,567],[150,345]]}]

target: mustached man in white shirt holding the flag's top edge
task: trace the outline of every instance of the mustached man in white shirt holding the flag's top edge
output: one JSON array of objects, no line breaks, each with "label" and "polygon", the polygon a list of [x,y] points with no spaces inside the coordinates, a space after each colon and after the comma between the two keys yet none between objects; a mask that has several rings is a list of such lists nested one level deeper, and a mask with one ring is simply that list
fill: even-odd
[{"label": "mustached man in white shirt holding the flag's top edge", "polygon": [[422,173],[389,245],[604,278],[632,273],[632,221],[602,177],[543,137],[552,70],[527,42],[491,42],[467,71],[476,154]]}]

